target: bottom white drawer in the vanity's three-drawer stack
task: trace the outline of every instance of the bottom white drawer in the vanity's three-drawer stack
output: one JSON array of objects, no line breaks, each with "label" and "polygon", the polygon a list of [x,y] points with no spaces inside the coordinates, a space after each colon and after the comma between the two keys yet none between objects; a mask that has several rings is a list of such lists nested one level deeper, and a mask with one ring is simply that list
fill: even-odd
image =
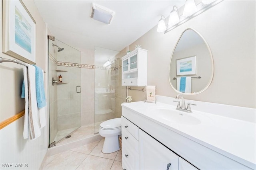
[{"label": "bottom white drawer in the vanity's three-drawer stack", "polygon": [[134,152],[133,149],[122,147],[122,162],[126,166],[126,170],[138,170],[139,154]]}]

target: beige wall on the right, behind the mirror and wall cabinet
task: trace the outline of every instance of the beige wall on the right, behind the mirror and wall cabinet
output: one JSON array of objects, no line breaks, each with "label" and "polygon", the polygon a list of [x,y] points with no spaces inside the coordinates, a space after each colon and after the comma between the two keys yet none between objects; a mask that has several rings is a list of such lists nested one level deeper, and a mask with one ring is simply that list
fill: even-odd
[{"label": "beige wall on the right, behind the mirror and wall cabinet", "polygon": [[[157,94],[175,97],[168,79],[170,57],[176,41],[187,28],[198,31],[207,41],[214,60],[210,87],[185,99],[256,108],[255,1],[222,1],[196,18],[164,34],[152,28],[129,46],[148,50],[148,85],[157,85]],[[129,91],[133,101],[144,93]]]}]

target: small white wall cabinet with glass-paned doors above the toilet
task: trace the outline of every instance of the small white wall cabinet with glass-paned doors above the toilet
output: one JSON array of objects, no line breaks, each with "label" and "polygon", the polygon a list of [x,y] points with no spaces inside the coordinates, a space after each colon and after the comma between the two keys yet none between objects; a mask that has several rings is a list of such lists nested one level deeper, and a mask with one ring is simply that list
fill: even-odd
[{"label": "small white wall cabinet with glass-paned doors above the toilet", "polygon": [[147,53],[137,48],[122,57],[122,86],[146,86]]}]

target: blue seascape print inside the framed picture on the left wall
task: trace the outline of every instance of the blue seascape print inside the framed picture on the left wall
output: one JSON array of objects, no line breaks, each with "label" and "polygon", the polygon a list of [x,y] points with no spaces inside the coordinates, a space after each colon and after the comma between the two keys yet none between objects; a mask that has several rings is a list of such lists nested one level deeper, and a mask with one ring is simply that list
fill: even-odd
[{"label": "blue seascape print inside the framed picture on the left wall", "polygon": [[15,43],[31,54],[32,48],[32,27],[15,7]]}]

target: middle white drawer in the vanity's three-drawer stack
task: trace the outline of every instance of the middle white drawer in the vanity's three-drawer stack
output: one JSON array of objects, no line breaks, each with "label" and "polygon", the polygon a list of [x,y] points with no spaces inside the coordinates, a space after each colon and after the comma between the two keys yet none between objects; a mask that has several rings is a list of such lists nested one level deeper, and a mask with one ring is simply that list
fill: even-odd
[{"label": "middle white drawer in the vanity's three-drawer stack", "polygon": [[139,141],[122,127],[122,148],[124,147],[130,147],[139,153]]}]

